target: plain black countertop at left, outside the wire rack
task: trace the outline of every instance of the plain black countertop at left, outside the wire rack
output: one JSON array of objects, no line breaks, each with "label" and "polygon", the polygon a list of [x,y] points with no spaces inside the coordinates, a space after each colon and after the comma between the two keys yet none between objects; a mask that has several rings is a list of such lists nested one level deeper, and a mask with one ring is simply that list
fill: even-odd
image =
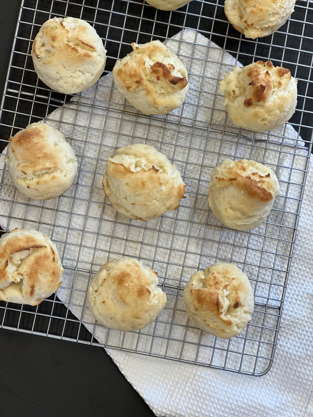
[{"label": "plain black countertop at left, outside the wire rack", "polygon": [[[3,92],[20,2],[0,11]],[[0,329],[0,415],[154,416],[105,350]]]}]

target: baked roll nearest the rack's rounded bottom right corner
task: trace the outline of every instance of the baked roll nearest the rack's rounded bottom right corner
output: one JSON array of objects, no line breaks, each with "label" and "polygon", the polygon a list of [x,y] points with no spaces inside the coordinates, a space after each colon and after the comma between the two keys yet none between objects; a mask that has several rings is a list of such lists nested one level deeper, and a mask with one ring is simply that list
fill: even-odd
[{"label": "baked roll nearest the rack's rounded bottom right corner", "polygon": [[216,263],[192,275],[184,289],[189,319],[221,339],[237,336],[254,309],[251,284],[236,265]]}]

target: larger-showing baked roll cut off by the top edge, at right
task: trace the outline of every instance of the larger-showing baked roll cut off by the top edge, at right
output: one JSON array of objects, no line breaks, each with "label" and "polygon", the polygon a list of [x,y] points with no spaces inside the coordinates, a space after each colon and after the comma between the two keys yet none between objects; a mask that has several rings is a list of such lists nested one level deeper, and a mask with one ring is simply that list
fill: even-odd
[{"label": "larger-showing baked roll cut off by the top edge, at right", "polygon": [[246,38],[263,38],[283,26],[295,10],[295,0],[225,0],[225,15]]}]

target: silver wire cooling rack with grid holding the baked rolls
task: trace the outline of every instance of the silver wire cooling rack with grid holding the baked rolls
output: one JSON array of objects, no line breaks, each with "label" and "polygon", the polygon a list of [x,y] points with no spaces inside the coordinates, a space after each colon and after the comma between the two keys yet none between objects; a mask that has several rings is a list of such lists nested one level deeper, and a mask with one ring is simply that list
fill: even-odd
[{"label": "silver wire cooling rack with grid holding the baked rolls", "polygon": [[[64,196],[38,202],[15,190],[1,156],[1,226],[5,231],[28,227],[51,236],[65,269],[58,294],[39,306],[1,301],[1,327],[244,374],[268,372],[312,135],[311,4],[298,0],[288,23],[256,42],[229,25],[220,0],[194,0],[174,12],[157,11],[143,0],[22,2],[1,106],[0,150],[4,156],[10,136],[44,119],[70,141],[79,170]],[[106,77],[87,93],[53,92],[33,70],[29,55],[33,39],[43,22],[54,16],[87,20],[105,43]],[[167,116],[137,113],[112,83],[111,70],[117,58],[130,52],[129,43],[153,39],[168,41],[189,71],[187,100]],[[291,126],[270,136],[233,128],[226,119],[218,80],[237,61],[247,65],[268,58],[289,68],[299,80]],[[149,143],[164,152],[187,183],[187,198],[176,212],[145,224],[116,214],[101,189],[107,157],[133,142]],[[208,209],[210,173],[227,157],[265,162],[280,179],[281,193],[268,221],[250,232],[227,229]],[[156,322],[139,332],[119,333],[98,326],[85,306],[89,280],[99,266],[124,254],[158,271],[160,286],[167,292],[167,305]],[[255,294],[251,322],[238,337],[226,341],[203,334],[188,322],[182,301],[190,276],[215,261],[242,268]]]}]

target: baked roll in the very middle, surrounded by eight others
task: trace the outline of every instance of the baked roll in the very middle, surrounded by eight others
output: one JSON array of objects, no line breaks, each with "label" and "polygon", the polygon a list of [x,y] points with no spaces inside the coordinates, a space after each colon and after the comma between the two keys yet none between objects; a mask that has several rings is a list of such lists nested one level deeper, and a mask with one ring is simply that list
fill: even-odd
[{"label": "baked roll in the very middle, surrounded by eight others", "polygon": [[186,189],[175,165],[142,143],[118,149],[108,159],[102,185],[116,211],[142,221],[176,210]]}]

